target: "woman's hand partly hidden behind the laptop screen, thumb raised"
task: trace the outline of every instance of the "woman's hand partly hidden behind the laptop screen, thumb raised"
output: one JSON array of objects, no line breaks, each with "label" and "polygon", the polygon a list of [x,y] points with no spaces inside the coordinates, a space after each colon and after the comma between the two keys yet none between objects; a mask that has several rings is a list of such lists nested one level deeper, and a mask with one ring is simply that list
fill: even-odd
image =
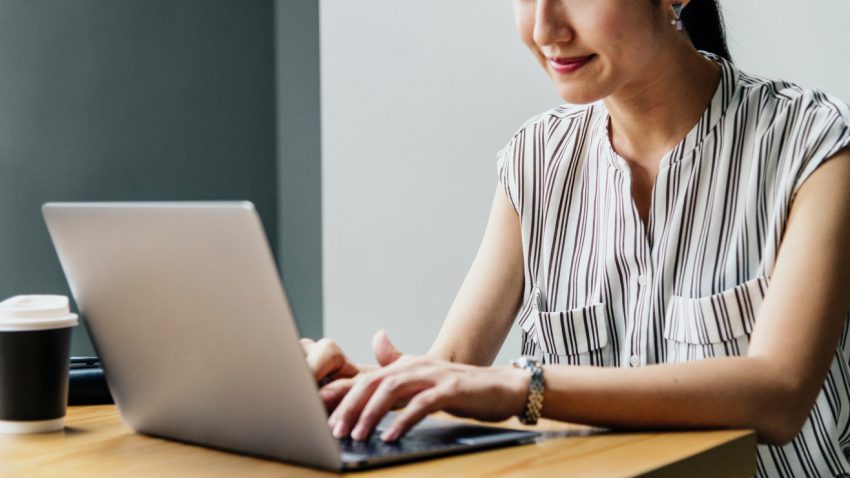
[{"label": "woman's hand partly hidden behind the laptop screen, thumb raised", "polygon": [[[328,411],[333,411],[354,383],[354,377],[375,367],[358,366],[348,360],[339,345],[331,339],[318,341],[303,338],[301,349],[307,365],[319,384],[319,395]],[[380,366],[389,365],[401,356],[381,330],[372,339],[372,348]]]}]

